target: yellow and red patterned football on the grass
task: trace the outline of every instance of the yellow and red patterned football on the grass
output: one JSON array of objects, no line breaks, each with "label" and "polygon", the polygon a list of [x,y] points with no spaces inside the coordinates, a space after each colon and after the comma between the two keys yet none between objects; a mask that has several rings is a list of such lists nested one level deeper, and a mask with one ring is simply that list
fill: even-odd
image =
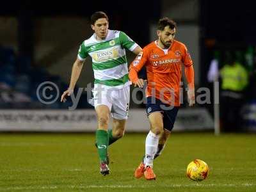
[{"label": "yellow and red patterned football on the grass", "polygon": [[191,180],[201,181],[204,180],[209,174],[209,167],[207,163],[200,159],[195,159],[188,164],[187,176]]}]

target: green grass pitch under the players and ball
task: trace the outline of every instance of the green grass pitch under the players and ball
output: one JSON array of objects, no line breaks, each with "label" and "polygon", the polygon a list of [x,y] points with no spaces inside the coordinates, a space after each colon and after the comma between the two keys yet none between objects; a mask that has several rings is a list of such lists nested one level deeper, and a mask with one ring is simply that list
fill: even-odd
[{"label": "green grass pitch under the players and ball", "polygon": [[[256,135],[173,133],[154,162],[157,180],[135,179],[146,134],[109,147],[111,174],[99,174],[94,134],[0,134],[0,191],[256,191]],[[209,177],[186,177],[193,159]]]}]

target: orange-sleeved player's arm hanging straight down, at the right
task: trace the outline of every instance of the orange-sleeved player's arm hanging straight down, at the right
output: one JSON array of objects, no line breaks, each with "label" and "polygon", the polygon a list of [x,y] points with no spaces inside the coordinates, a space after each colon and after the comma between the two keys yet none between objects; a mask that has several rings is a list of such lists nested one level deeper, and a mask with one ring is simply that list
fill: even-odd
[{"label": "orange-sleeved player's arm hanging straight down, at the right", "polygon": [[188,102],[189,106],[193,106],[195,104],[195,74],[193,68],[193,61],[191,60],[191,56],[188,52],[188,49],[185,47],[183,63],[185,66],[185,76],[188,82]]}]

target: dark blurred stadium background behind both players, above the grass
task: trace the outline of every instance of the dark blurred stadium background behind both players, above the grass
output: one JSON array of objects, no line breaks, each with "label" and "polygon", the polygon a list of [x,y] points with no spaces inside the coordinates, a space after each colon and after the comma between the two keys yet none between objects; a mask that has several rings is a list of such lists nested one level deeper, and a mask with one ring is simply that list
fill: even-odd
[{"label": "dark blurred stadium background behind both players, above the grass", "polygon": [[[93,131],[96,116],[86,92],[74,111],[60,102],[68,88],[79,45],[89,38],[90,15],[106,12],[109,29],[127,33],[141,47],[156,40],[157,21],[177,22],[176,39],[194,62],[197,102],[188,108],[186,92],[176,131],[256,131],[255,3],[250,1],[4,1],[0,8],[0,131]],[[134,55],[127,51],[128,63]],[[142,70],[141,77],[145,77]],[[145,77],[146,78],[146,77]],[[38,100],[45,81],[58,86]],[[185,81],[185,80],[184,80]],[[93,83],[86,60],[77,88]],[[184,85],[184,88],[186,85]],[[142,99],[142,91],[136,97]],[[219,104],[220,103],[220,104]],[[148,131],[144,105],[131,100],[128,131]],[[136,122],[136,124],[134,123]],[[146,125],[145,125],[146,124]]]}]

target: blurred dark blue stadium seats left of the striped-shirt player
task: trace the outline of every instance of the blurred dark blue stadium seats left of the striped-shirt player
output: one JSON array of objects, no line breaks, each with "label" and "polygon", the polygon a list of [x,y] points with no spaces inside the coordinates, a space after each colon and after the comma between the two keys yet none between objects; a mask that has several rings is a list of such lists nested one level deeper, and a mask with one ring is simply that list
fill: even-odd
[{"label": "blurred dark blue stadium seats left of the striped-shirt player", "polygon": [[[61,103],[60,99],[52,104],[38,100],[38,86],[51,81],[63,92],[67,87],[59,76],[53,76],[44,68],[33,67],[28,57],[17,57],[13,49],[0,45],[0,109],[67,109],[72,101]],[[77,92],[77,89],[74,93]],[[51,93],[56,97],[56,91]],[[42,93],[39,93],[42,96]],[[83,94],[83,98],[86,98]],[[86,99],[81,99],[78,109],[92,108]]]}]

